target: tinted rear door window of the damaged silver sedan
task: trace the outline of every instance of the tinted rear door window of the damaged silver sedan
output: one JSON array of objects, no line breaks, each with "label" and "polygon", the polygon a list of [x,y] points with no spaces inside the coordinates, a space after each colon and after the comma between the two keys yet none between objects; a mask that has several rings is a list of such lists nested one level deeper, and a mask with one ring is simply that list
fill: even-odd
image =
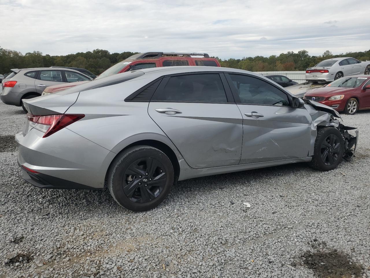
[{"label": "tinted rear door window of the damaged silver sedan", "polygon": [[155,92],[153,100],[227,102],[226,93],[218,74],[170,77],[164,89]]}]

